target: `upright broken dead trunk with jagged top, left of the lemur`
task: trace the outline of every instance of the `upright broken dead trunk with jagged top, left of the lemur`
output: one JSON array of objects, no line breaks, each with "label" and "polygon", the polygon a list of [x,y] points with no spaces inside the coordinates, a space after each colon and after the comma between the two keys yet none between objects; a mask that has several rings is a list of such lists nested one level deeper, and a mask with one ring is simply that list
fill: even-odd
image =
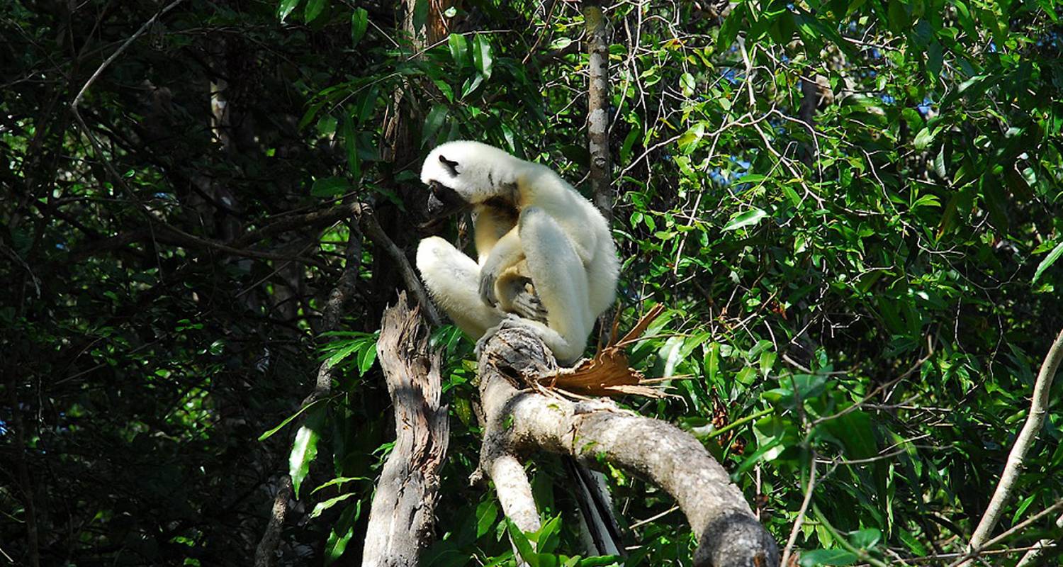
[{"label": "upright broken dead trunk with jagged top, left of the lemur", "polygon": [[428,328],[405,293],[384,312],[377,348],[396,438],[376,484],[361,565],[416,566],[432,540],[450,426],[439,402],[441,355],[428,352]]}]

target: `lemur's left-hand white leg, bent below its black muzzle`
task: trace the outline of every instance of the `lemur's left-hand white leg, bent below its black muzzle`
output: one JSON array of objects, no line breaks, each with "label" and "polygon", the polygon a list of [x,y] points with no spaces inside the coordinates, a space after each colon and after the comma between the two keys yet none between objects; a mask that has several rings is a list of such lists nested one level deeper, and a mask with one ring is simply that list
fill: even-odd
[{"label": "lemur's left-hand white leg, bent below its black muzzle", "polygon": [[479,298],[479,266],[451,243],[438,236],[421,240],[417,269],[432,299],[473,340],[502,320],[502,313]]}]

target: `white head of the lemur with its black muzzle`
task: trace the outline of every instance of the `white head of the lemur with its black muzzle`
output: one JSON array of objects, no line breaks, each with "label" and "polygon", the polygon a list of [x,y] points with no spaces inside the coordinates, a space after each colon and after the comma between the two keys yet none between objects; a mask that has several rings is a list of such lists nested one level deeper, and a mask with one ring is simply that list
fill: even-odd
[{"label": "white head of the lemur with its black muzzle", "polygon": [[428,186],[428,214],[458,213],[512,190],[523,162],[478,141],[448,141],[428,153],[421,181]]}]

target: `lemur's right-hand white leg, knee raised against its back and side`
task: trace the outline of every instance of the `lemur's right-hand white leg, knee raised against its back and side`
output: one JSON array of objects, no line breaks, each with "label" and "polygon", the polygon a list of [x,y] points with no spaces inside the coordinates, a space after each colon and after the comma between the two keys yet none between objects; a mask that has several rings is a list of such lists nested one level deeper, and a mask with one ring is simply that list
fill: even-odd
[{"label": "lemur's right-hand white leg, knee raised against its back and side", "polygon": [[537,206],[521,211],[521,245],[535,290],[546,307],[546,324],[529,321],[562,362],[579,358],[594,324],[588,306],[587,270],[554,217]]}]

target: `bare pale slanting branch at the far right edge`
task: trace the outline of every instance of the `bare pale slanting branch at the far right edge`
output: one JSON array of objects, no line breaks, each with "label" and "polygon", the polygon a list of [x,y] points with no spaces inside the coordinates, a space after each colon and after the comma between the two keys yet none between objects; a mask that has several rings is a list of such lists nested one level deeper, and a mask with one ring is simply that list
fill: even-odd
[{"label": "bare pale slanting branch at the far right edge", "polygon": [[968,549],[984,547],[985,541],[990,538],[990,534],[993,533],[993,529],[996,528],[997,521],[1003,515],[1005,505],[1007,505],[1011,493],[1015,488],[1018,474],[1023,469],[1023,463],[1026,461],[1026,453],[1029,452],[1033,441],[1036,440],[1041,426],[1045,422],[1045,415],[1048,413],[1048,394],[1052,388],[1052,379],[1056,377],[1056,371],[1059,370],[1060,362],[1063,362],[1063,331],[1056,337],[1056,341],[1048,349],[1048,354],[1045,355],[1045,361],[1041,363],[1041,371],[1033,383],[1033,401],[1030,404],[1030,415],[1026,417],[1026,423],[1023,424],[1022,431],[1018,432],[1018,437],[1015,438],[1015,445],[1011,448],[1011,452],[1008,453],[1008,461],[1005,464],[1003,472],[1000,474],[1000,482],[993,493],[993,498],[990,499],[990,504],[985,507],[982,519],[978,522],[978,527],[975,528],[974,535],[971,536]]}]

